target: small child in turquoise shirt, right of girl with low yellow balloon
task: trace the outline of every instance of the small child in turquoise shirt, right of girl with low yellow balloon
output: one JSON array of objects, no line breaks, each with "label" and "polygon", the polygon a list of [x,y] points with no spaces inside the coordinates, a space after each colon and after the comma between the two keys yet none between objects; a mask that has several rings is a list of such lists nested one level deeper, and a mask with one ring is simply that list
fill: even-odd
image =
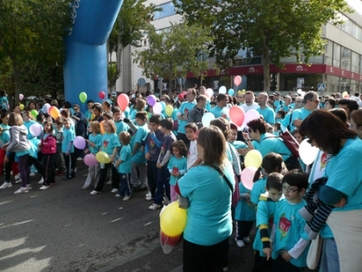
[{"label": "small child in turquoise shirt, right of girl with low yellow balloon", "polygon": [[131,196],[131,189],[129,183],[130,168],[131,168],[131,151],[130,151],[130,135],[127,131],[122,131],[119,134],[119,141],[122,147],[119,151],[119,160],[115,166],[119,169],[119,193],[116,197],[123,196],[123,201],[127,202]]}]

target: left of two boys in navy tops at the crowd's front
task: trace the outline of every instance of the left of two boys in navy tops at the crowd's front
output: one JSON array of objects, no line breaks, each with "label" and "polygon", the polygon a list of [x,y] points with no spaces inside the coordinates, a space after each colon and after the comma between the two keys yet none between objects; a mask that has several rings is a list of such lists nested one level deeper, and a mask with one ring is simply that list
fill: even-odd
[{"label": "left of two boys in navy tops at the crowd's front", "polygon": [[145,157],[148,161],[148,189],[149,192],[146,195],[146,200],[150,201],[154,199],[157,183],[157,160],[159,152],[161,150],[162,140],[164,134],[161,132],[161,126],[159,125],[162,118],[158,114],[154,114],[149,118],[149,132],[145,139]]}]

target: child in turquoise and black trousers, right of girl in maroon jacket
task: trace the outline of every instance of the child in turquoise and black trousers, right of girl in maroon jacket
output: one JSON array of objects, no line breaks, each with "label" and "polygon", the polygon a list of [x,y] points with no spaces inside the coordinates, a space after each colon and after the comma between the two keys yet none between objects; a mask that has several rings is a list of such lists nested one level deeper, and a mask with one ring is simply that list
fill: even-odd
[{"label": "child in turquoise and black trousers, right of girl in maroon jacket", "polygon": [[63,180],[71,180],[74,176],[75,168],[75,155],[74,155],[74,145],[73,141],[75,138],[74,130],[71,129],[71,119],[64,118],[62,121],[64,126],[63,136],[62,136],[62,155],[64,157],[65,167],[67,173],[63,177]]}]

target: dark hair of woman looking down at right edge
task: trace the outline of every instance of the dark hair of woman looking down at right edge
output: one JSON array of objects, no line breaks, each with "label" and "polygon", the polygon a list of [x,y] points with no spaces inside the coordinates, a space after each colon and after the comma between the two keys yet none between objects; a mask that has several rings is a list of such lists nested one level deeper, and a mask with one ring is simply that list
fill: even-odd
[{"label": "dark hair of woman looking down at right edge", "polygon": [[314,140],[319,148],[331,155],[341,149],[341,139],[356,138],[357,134],[346,127],[338,117],[328,110],[315,110],[300,125],[300,135]]}]

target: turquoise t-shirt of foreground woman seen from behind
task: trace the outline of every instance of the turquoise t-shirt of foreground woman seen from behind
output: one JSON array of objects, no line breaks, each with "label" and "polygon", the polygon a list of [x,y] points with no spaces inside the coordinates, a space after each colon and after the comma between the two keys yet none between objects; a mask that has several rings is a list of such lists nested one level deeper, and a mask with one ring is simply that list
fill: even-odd
[{"label": "turquoise t-shirt of foreground woman seen from behind", "polygon": [[[226,163],[224,174],[234,187],[233,167]],[[184,239],[201,246],[211,246],[230,237],[232,191],[214,168],[197,165],[178,181],[181,195],[187,197]]]}]

